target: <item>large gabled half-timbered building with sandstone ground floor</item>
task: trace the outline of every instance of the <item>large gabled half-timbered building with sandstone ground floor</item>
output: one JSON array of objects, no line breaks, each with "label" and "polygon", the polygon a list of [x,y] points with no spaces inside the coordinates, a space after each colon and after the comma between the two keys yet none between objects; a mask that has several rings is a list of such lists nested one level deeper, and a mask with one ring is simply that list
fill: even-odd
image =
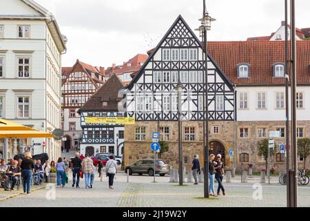
[{"label": "large gabled half-timbered building with sandstone ground floor", "polygon": [[[151,157],[152,133],[161,133],[169,151],[163,157],[178,164],[178,100],[176,85],[183,84],[180,99],[183,161],[191,166],[192,155],[203,157],[203,118],[206,62],[203,46],[183,17],[179,16],[127,86],[126,108],[136,125],[125,126],[125,164]],[[207,59],[211,153],[225,157],[234,146],[234,86],[209,56]]]}]

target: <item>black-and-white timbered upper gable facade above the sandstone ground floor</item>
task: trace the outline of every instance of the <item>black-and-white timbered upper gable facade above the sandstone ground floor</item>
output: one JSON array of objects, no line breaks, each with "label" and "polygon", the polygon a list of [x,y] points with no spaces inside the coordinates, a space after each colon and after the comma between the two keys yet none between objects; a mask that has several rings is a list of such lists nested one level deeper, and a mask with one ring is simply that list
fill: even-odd
[{"label": "black-and-white timbered upper gable facade above the sandstone ground floor", "polygon": [[[210,121],[235,119],[234,87],[216,62],[208,57],[208,113]],[[184,121],[203,120],[203,46],[179,16],[152,55],[127,86],[127,115],[136,121],[176,121],[176,85],[183,84],[181,117]]]}]

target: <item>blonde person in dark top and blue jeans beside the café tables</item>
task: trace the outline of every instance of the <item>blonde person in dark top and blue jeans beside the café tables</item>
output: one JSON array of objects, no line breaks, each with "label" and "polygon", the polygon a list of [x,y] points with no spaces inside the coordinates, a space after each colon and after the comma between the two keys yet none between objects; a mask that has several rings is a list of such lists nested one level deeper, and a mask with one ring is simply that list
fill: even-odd
[{"label": "blonde person in dark top and blue jeans beside the caf\u00e9 tables", "polygon": [[31,153],[25,153],[25,159],[21,162],[21,175],[23,177],[23,193],[30,195],[34,162]]}]

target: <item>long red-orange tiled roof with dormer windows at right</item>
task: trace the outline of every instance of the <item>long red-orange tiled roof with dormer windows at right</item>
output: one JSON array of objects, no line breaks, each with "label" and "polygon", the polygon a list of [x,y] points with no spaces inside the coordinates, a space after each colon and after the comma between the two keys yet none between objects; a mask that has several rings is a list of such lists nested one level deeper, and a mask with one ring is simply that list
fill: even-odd
[{"label": "long red-orange tiled roof with dormer windows at right", "polygon": [[[310,41],[297,41],[297,81],[310,84]],[[273,77],[273,64],[285,63],[285,41],[211,41],[209,55],[234,84],[284,84]],[[237,65],[250,64],[250,77],[237,77]],[[290,69],[290,66],[289,66]]]}]

